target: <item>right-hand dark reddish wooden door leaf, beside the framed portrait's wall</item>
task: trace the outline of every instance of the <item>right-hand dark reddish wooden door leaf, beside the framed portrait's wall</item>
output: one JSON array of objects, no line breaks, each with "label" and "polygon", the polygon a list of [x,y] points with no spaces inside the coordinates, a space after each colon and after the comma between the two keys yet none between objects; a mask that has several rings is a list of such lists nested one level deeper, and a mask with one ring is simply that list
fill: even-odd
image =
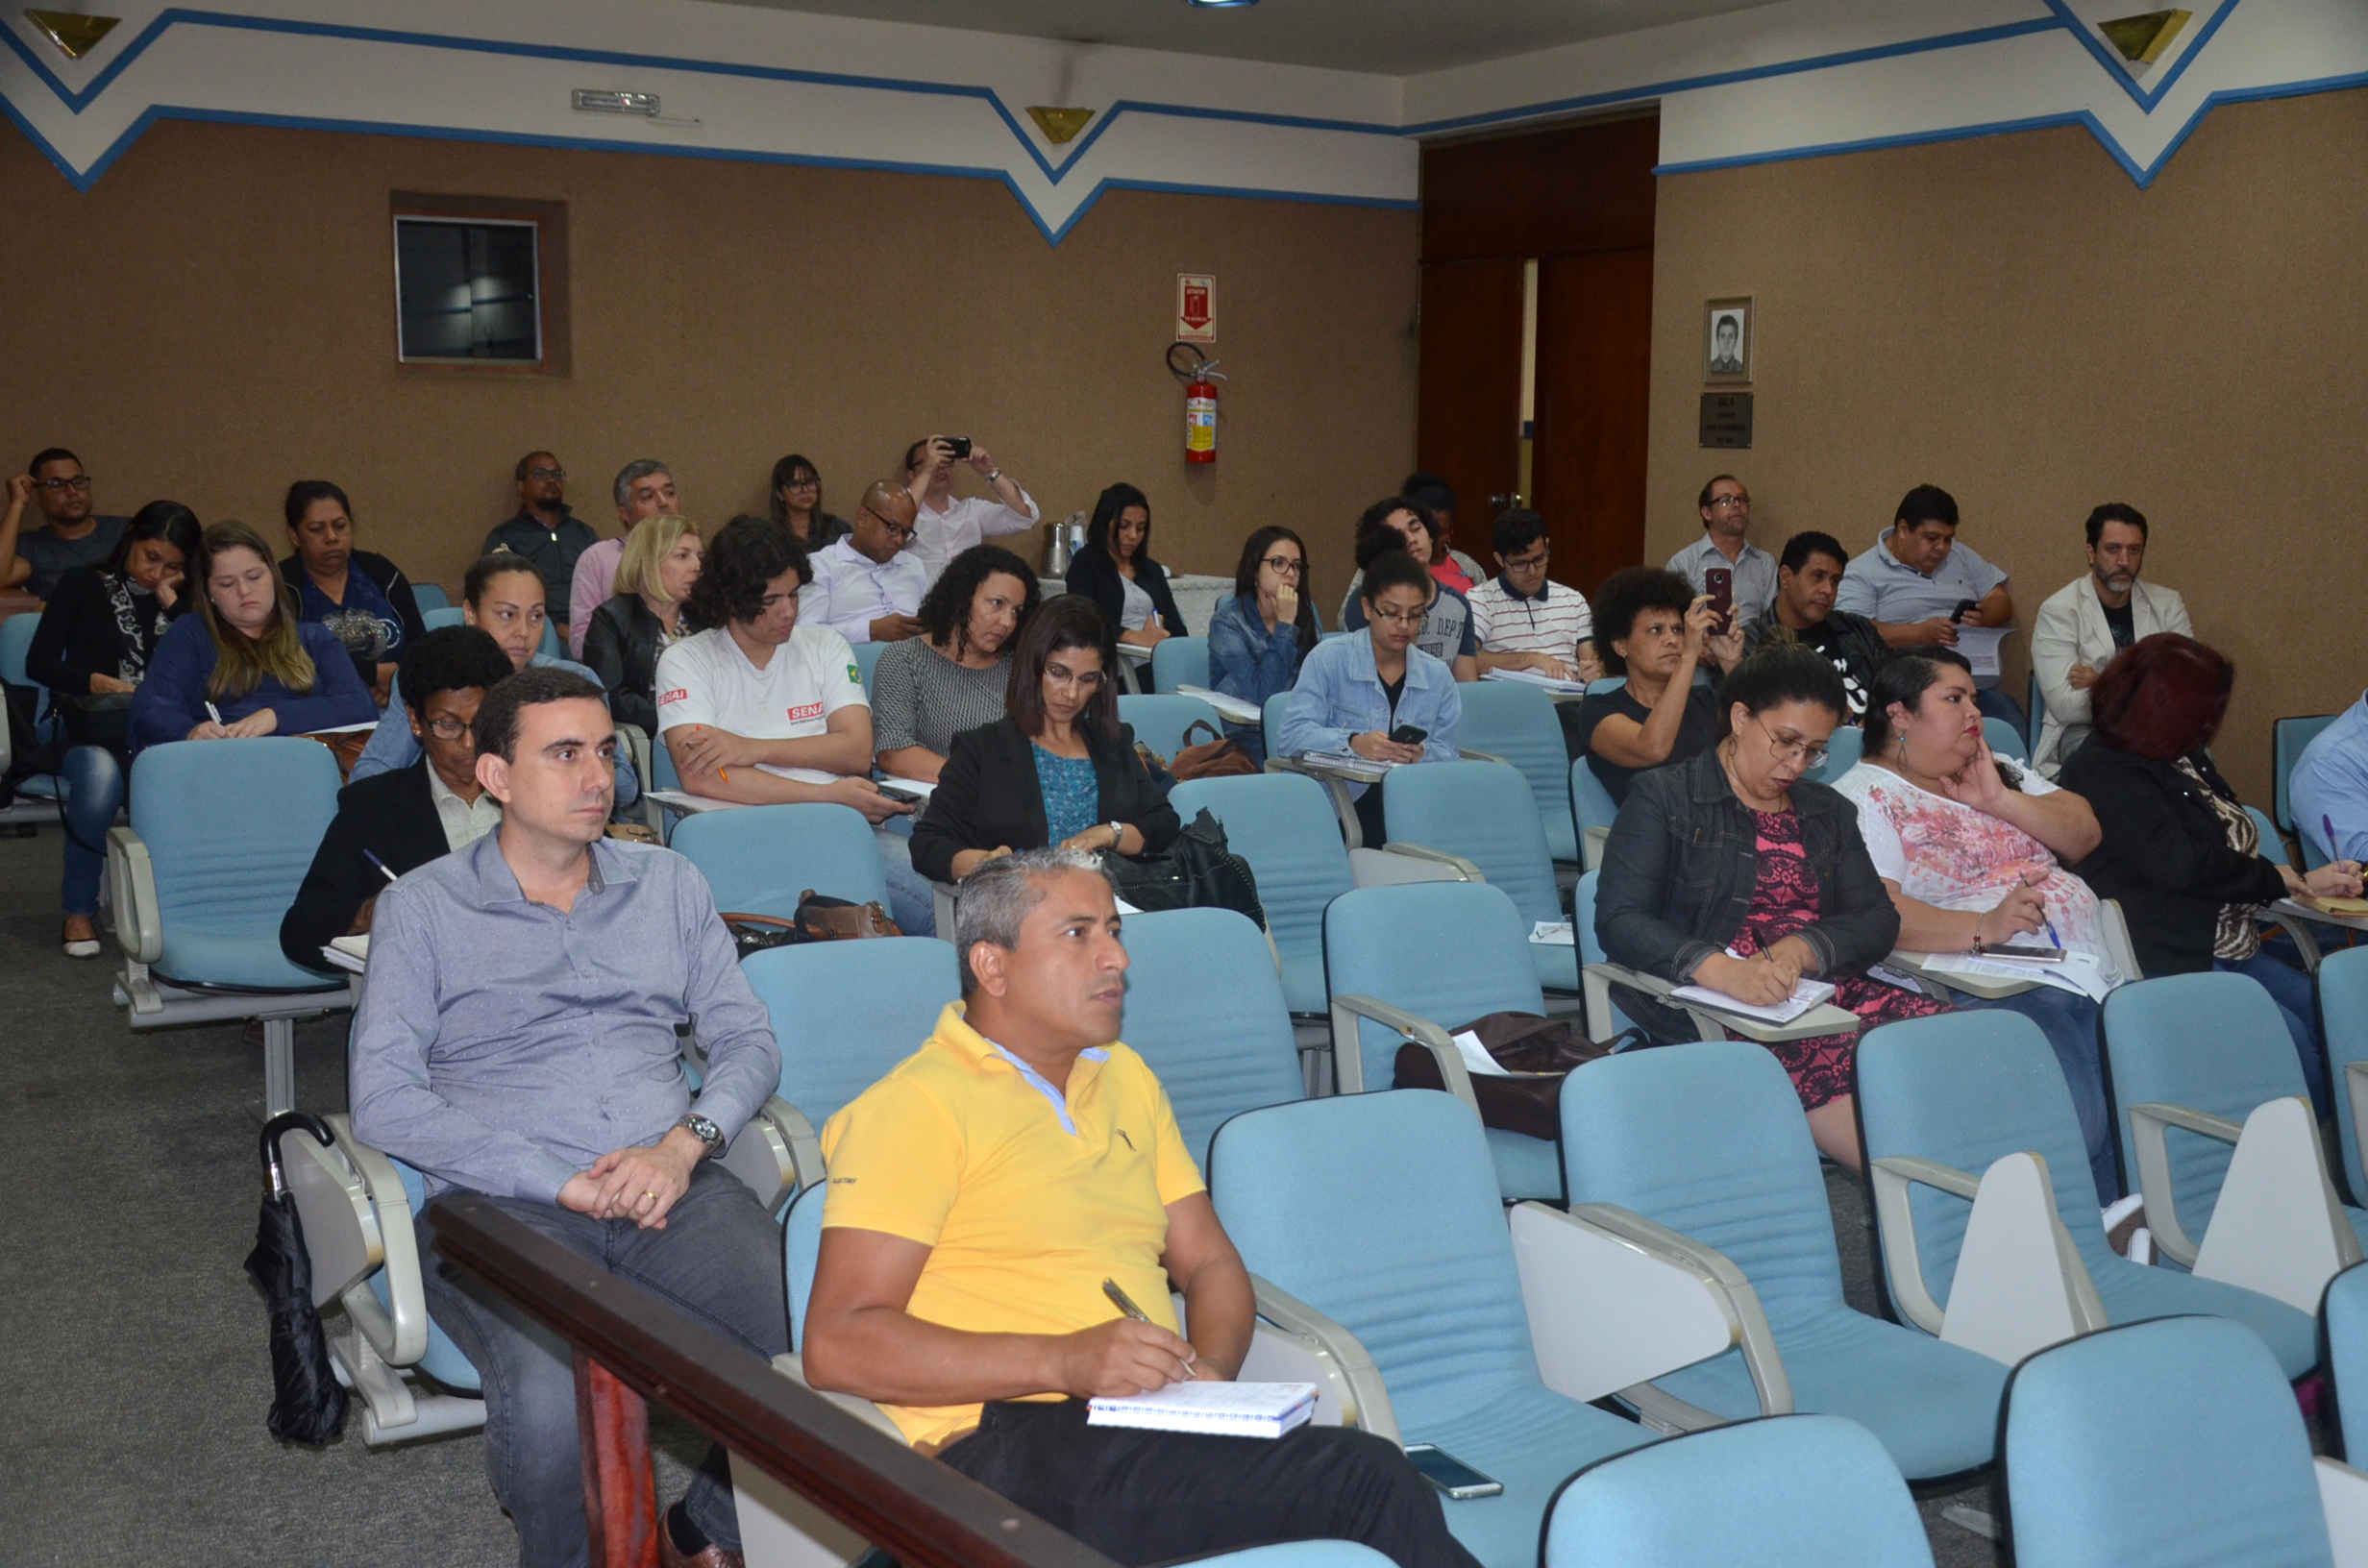
[{"label": "right-hand dark reddish wooden door leaf, beside the framed portrait's wall", "polygon": [[1546,256],[1537,268],[1530,505],[1553,538],[1553,578],[1587,595],[1643,559],[1650,384],[1653,251]]}]

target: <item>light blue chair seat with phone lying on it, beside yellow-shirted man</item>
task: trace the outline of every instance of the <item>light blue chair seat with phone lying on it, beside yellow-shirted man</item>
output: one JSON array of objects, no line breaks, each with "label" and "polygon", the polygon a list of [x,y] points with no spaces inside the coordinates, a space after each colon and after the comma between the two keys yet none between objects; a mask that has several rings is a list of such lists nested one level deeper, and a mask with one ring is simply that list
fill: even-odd
[{"label": "light blue chair seat with phone lying on it, beside yellow-shirted man", "polygon": [[1487,1395],[1461,1416],[1407,1426],[1399,1435],[1437,1442],[1501,1480],[1499,1497],[1442,1497],[1447,1528],[1485,1568],[1537,1568],[1537,1521],[1556,1487],[1596,1459],[1653,1442],[1655,1433],[1544,1383],[1504,1383]]}]

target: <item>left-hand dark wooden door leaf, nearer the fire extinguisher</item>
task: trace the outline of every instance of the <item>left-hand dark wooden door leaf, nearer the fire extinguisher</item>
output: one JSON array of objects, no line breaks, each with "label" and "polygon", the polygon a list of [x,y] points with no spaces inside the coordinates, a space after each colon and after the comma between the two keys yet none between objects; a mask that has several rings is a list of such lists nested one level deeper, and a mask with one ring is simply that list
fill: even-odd
[{"label": "left-hand dark wooden door leaf, nearer the fire extinguisher", "polygon": [[1454,542],[1492,566],[1489,523],[1520,486],[1520,258],[1423,268],[1414,450],[1456,493]]}]

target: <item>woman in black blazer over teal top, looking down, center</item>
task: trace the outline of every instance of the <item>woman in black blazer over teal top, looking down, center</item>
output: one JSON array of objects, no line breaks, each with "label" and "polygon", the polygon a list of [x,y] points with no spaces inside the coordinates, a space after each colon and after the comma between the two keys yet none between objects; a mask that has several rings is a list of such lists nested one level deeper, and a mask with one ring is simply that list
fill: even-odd
[{"label": "woman in black blazer over teal top, looking down, center", "polygon": [[921,822],[912,865],[959,881],[980,862],[1049,843],[1158,855],[1179,831],[1167,791],[1118,722],[1111,621],[1058,595],[1028,618],[1011,656],[1009,718],[954,737]]}]

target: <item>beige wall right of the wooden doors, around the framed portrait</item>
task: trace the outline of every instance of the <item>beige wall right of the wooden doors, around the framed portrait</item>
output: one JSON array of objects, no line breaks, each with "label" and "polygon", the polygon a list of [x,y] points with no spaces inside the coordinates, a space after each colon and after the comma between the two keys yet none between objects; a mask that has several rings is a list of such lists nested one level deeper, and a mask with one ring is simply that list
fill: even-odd
[{"label": "beige wall right of the wooden doors, around the framed portrait", "polygon": [[[2266,808],[2271,720],[2344,706],[2368,666],[2361,189],[2368,92],[2214,109],[2150,189],[2077,128],[1662,180],[1648,559],[1698,538],[1719,469],[1769,550],[1866,550],[1932,481],[2029,628],[2084,571],[2089,509],[2126,500],[2145,576],[2238,663],[2214,751]],[[1757,298],[1748,452],[1695,445],[1726,294]]]}]

